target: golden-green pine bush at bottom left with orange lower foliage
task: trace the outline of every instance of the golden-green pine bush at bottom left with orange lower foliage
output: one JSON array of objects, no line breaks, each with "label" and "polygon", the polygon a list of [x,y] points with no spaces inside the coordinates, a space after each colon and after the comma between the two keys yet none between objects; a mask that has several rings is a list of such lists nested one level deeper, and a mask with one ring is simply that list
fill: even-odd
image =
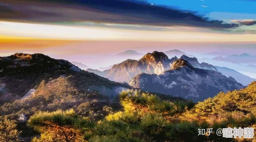
[{"label": "golden-green pine bush at bottom left with orange lower foliage", "polygon": [[32,142],[82,142],[81,128],[90,126],[90,122],[73,109],[38,112],[31,116],[28,124],[42,132],[41,137]]}]

